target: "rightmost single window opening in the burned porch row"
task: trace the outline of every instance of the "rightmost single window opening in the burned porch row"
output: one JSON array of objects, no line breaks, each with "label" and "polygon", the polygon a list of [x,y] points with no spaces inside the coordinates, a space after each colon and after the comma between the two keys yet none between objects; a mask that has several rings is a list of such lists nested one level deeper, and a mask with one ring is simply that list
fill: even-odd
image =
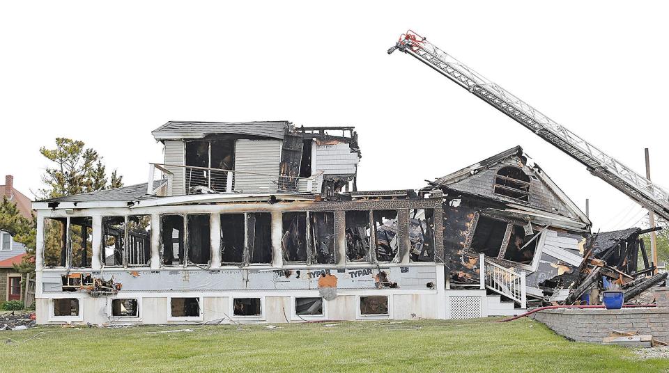
[{"label": "rightmost single window opening in the burned porch row", "polygon": [[434,261],[434,210],[409,210],[409,260]]}]

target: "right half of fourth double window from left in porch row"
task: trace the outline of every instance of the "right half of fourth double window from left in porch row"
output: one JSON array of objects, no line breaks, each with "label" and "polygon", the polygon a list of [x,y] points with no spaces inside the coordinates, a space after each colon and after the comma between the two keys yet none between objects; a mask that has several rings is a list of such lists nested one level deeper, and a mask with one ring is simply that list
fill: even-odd
[{"label": "right half of fourth double window from left in porch row", "polygon": [[246,223],[249,262],[253,264],[272,262],[272,214],[249,212],[246,214]]}]

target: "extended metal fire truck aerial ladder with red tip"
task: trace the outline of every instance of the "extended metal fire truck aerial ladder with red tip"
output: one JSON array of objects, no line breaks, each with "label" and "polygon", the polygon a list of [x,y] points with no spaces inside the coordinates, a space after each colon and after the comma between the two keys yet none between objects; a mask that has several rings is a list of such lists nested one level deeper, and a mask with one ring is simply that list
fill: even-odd
[{"label": "extended metal fire truck aerial ladder with red tip", "polygon": [[669,221],[669,194],[620,161],[602,152],[569,129],[533,108],[504,88],[468,68],[445,51],[413,31],[403,33],[388,54],[399,50],[417,58],[473,95],[502,111],[523,127],[537,134],[584,164],[587,170],[643,207]]}]

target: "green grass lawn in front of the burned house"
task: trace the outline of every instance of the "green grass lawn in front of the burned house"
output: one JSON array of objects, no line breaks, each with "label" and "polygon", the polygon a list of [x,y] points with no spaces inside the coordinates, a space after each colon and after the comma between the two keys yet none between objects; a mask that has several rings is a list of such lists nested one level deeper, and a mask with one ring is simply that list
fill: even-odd
[{"label": "green grass lawn in front of the burned house", "polygon": [[[16,342],[1,344],[0,371],[669,372],[669,360],[568,342],[528,319],[337,324],[3,331]],[[151,333],[184,328],[194,331]]]}]

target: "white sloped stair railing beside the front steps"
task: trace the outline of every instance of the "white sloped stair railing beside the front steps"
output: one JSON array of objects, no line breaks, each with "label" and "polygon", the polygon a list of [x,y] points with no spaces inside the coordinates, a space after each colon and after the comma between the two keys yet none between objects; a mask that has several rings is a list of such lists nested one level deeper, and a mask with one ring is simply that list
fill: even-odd
[{"label": "white sloped stair railing beside the front steps", "polygon": [[521,308],[527,308],[527,292],[525,289],[525,272],[516,272],[485,260],[485,255],[481,254],[481,286],[491,289],[493,292],[512,299]]}]

